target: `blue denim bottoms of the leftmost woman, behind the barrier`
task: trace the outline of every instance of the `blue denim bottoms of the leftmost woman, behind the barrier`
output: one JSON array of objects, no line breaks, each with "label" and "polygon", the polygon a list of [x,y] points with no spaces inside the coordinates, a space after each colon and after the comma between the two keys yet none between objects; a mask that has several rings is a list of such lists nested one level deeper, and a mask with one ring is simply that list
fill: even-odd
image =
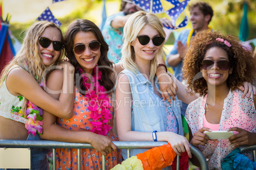
[{"label": "blue denim bottoms of the leftmost woman, behind the barrier", "polygon": [[[36,136],[29,133],[27,140],[41,140],[41,138],[39,137],[38,133],[36,133]],[[50,148],[31,148],[31,169],[32,170],[48,170],[49,163],[48,163],[46,154],[48,154],[48,152],[50,151],[51,151]],[[12,169],[12,170],[16,170],[16,169]]]}]

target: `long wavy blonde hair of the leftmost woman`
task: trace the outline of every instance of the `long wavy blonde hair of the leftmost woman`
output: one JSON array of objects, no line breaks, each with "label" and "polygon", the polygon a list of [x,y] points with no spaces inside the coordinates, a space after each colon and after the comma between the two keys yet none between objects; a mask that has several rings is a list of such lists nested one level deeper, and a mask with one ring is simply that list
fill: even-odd
[{"label": "long wavy blonde hair of the leftmost woman", "polygon": [[[45,81],[45,74],[43,72],[45,71],[46,67],[43,64],[41,56],[39,55],[40,50],[38,39],[39,37],[41,37],[47,27],[53,27],[58,29],[61,34],[61,41],[63,42],[63,34],[60,28],[55,25],[55,23],[46,21],[34,23],[33,25],[31,25],[31,27],[27,29],[20,51],[18,51],[15,58],[13,58],[13,60],[11,60],[11,62],[6,65],[6,67],[4,67],[1,73],[1,81],[3,81],[4,75],[7,74],[8,70],[10,70],[13,65],[19,65],[23,69],[27,70],[27,72],[29,72],[29,74],[31,74],[38,83],[41,81]],[[63,54],[64,51],[61,50],[59,58],[53,64],[58,63],[61,60]]]}]

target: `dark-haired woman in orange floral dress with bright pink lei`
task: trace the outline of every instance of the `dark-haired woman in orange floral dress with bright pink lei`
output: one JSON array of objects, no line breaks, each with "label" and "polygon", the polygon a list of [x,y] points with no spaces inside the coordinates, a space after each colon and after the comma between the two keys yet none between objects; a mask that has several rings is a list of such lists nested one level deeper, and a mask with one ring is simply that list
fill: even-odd
[{"label": "dark-haired woman in orange floral dress with bright pink lei", "polygon": [[[89,20],[72,22],[64,42],[66,56],[75,67],[73,117],[60,119],[44,112],[41,138],[90,143],[94,148],[81,150],[82,169],[102,169],[102,155],[106,156],[106,169],[111,169],[122,161],[122,156],[112,142],[117,141],[112,129],[114,108],[111,92],[115,76],[113,63],[107,56],[108,44],[101,30]],[[61,89],[62,73],[52,72],[47,82],[49,89]],[[59,148],[56,152],[57,168],[77,169],[77,149]]]}]

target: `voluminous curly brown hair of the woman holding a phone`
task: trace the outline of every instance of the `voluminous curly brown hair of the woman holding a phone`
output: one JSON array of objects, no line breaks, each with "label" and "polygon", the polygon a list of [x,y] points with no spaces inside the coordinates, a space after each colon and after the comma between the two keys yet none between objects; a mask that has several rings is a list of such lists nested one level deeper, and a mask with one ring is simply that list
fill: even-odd
[{"label": "voluminous curly brown hair of the woman holding a phone", "polygon": [[[216,39],[224,39],[231,47]],[[193,37],[183,61],[183,79],[187,81],[188,88],[199,95],[206,95],[208,87],[201,73],[202,62],[208,49],[218,47],[227,52],[232,73],[227,78],[227,86],[234,91],[245,81],[252,82],[255,77],[255,61],[252,51],[247,50],[238,37],[208,30],[201,31]],[[191,92],[192,94],[192,92]]]}]

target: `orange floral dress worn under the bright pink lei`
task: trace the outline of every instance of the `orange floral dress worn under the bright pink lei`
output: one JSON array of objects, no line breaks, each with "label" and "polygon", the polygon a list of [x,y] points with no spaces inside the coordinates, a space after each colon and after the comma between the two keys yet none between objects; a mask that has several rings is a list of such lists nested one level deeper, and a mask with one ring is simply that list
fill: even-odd
[{"label": "orange floral dress worn under the bright pink lei", "polygon": [[[111,104],[111,114],[114,117],[113,101],[111,95],[108,95]],[[90,123],[90,110],[87,109],[87,97],[80,95],[76,90],[76,97],[74,101],[73,117],[71,119],[57,119],[57,124],[66,129],[73,131],[90,131],[92,124]],[[113,117],[109,125],[113,127]],[[113,133],[112,129],[107,134],[113,141],[117,141],[117,135]],[[57,168],[58,169],[77,169],[77,149],[71,148],[56,148]],[[95,149],[81,150],[81,169],[102,169],[102,154]],[[122,162],[121,151],[111,152],[106,157],[106,169],[111,169]]]}]

